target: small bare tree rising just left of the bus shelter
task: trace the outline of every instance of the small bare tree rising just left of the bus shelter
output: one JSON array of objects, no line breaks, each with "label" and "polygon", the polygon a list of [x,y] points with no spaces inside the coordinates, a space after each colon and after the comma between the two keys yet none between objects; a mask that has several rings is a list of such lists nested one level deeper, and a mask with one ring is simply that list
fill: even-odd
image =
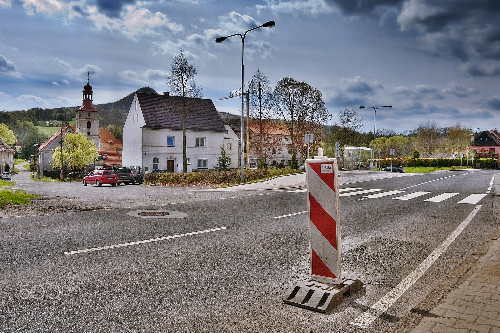
[{"label": "small bare tree rising just left of the bus shelter", "polygon": [[329,141],[340,143],[340,153],[343,156],[345,147],[357,143],[363,126],[364,118],[360,117],[355,109],[345,107],[338,112],[338,120],[332,128]]}]

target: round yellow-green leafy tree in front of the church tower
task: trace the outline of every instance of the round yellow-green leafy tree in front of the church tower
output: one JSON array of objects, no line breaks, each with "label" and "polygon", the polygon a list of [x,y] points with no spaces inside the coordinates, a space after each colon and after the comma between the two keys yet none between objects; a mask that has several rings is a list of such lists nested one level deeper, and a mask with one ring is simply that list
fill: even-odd
[{"label": "round yellow-green leafy tree in front of the church tower", "polygon": [[[61,148],[58,145],[52,153],[52,166],[61,167]],[[97,147],[83,133],[66,133],[62,143],[62,163],[72,170],[90,165],[97,157]]]}]

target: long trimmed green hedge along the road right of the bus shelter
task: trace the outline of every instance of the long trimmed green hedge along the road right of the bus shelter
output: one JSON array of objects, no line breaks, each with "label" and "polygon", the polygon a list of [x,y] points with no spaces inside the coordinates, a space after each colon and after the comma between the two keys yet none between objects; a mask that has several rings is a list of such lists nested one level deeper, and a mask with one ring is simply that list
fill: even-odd
[{"label": "long trimmed green hedge along the road right of the bus shelter", "polygon": [[[378,159],[378,167],[390,166],[390,160],[390,158]],[[478,158],[475,162],[481,163],[481,168],[494,168],[497,160],[494,158]],[[451,167],[457,165],[465,166],[466,164],[467,159],[465,158],[392,158],[392,165],[406,167]],[[468,165],[473,166],[471,159],[469,159]]]}]

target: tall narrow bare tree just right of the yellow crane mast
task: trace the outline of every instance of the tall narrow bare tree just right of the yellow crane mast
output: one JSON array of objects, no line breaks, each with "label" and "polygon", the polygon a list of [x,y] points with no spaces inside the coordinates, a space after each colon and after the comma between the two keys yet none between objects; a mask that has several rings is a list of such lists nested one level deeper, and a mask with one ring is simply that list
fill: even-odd
[{"label": "tall narrow bare tree just right of the yellow crane mast", "polygon": [[267,75],[259,68],[252,73],[252,81],[249,92],[250,116],[256,120],[258,126],[258,157],[266,158],[271,140],[269,136],[270,115],[272,112],[272,88]]}]

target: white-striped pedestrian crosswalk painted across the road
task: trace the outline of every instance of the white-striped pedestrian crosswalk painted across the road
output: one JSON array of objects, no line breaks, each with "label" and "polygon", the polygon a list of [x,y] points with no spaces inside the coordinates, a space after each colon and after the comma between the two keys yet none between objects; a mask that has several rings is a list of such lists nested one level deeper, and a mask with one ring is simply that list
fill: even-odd
[{"label": "white-striped pedestrian crosswalk painted across the road", "polygon": [[[293,193],[298,193],[298,192],[305,192],[306,189],[299,189],[299,190],[292,190],[289,192]],[[437,195],[432,195],[432,192],[428,191],[416,191],[416,192],[411,192],[411,193],[406,193],[407,191],[405,190],[390,190],[390,191],[384,191],[383,189],[380,188],[368,188],[368,189],[362,189],[361,187],[348,187],[348,188],[340,188],[338,189],[339,196],[355,196],[359,195],[361,198],[357,200],[364,200],[367,198],[379,198],[379,197],[384,197],[384,196],[393,196],[391,199],[394,200],[410,200],[414,198],[418,198],[421,196],[429,196],[422,201],[426,202],[442,202],[444,200],[451,199],[452,197],[460,197],[460,193],[454,193],[454,192],[444,192],[440,193]],[[374,193],[377,192],[377,193]],[[372,193],[372,194],[369,194]],[[404,194],[401,194],[404,193]],[[365,194],[365,195],[363,195]],[[401,194],[401,195],[398,195]],[[485,197],[487,194],[481,194],[481,193],[472,193],[469,194],[465,197],[461,197],[461,200],[456,201],[457,203],[472,203],[476,204],[479,202],[483,197]]]}]

